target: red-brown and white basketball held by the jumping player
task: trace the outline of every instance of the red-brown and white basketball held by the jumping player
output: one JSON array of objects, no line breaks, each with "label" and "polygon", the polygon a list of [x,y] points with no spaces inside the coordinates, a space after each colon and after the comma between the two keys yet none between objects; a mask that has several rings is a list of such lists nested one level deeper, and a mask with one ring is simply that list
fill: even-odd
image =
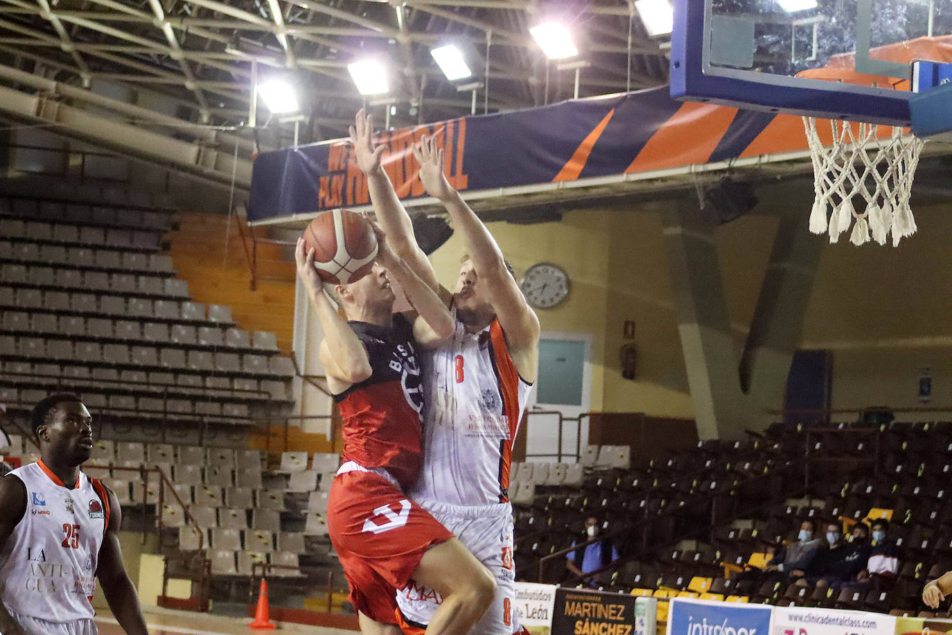
[{"label": "red-brown and white basketball held by the jumping player", "polygon": [[377,257],[377,236],[360,214],[347,209],[326,211],[304,230],[305,249],[314,249],[321,280],[349,285],[370,272]]}]

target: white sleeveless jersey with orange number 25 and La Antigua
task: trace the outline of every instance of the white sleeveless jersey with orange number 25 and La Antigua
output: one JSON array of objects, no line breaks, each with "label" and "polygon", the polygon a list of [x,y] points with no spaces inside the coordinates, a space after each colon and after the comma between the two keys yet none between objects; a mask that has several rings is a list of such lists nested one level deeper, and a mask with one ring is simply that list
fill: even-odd
[{"label": "white sleeveless jersey with orange number 25 and La Antigua", "polygon": [[109,497],[80,472],[65,486],[43,462],[4,478],[27,487],[27,510],[0,554],[3,603],[49,622],[91,619],[99,548],[109,525]]}]

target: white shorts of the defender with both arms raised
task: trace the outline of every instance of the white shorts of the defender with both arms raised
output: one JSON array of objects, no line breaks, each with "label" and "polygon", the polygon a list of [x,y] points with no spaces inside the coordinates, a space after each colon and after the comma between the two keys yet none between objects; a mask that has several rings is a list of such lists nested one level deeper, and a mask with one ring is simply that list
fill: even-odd
[{"label": "white shorts of the defender with both arms raised", "polygon": [[[496,578],[496,599],[472,633],[512,635],[520,630],[515,604],[515,566],[512,561],[512,506],[508,503],[455,506],[416,500],[436,520],[456,534],[476,559]],[[397,604],[407,624],[426,628],[442,598],[412,580],[397,592]]]}]

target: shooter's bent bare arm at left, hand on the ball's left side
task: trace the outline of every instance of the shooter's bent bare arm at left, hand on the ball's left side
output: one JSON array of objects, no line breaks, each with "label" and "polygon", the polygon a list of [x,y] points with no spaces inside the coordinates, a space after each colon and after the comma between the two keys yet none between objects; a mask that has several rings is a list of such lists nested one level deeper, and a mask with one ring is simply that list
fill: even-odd
[{"label": "shooter's bent bare arm at left, hand on the ball's left side", "polygon": [[343,392],[352,384],[363,382],[373,372],[367,358],[367,348],[361,344],[357,334],[347,325],[324,292],[324,283],[314,268],[314,249],[306,252],[304,240],[299,238],[294,258],[297,261],[298,275],[307,289],[307,297],[324,329],[324,340],[321,341],[319,354],[321,364],[327,372],[328,384],[331,392]]}]

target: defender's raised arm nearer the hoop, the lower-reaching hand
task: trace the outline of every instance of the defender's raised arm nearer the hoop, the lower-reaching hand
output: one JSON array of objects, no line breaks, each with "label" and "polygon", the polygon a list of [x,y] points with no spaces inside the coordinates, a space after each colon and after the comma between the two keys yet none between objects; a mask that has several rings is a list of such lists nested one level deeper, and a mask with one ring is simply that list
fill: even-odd
[{"label": "defender's raised arm nearer the hoop, the lower-reaching hand", "polygon": [[432,138],[424,137],[413,154],[420,162],[420,180],[430,196],[440,199],[453,227],[463,232],[466,250],[476,275],[485,280],[489,302],[496,310],[513,361],[526,381],[535,380],[539,348],[539,318],[529,308],[523,292],[506,268],[506,259],[496,240],[460,193],[449,185],[444,172],[444,153]]}]

